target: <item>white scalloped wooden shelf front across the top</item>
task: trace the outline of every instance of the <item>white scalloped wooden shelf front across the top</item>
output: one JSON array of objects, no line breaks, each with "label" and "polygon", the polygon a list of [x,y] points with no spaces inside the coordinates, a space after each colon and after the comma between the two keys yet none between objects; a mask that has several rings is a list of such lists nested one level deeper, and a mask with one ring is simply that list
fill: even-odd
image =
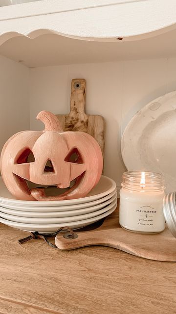
[{"label": "white scalloped wooden shelf front across the top", "polygon": [[0,7],[0,44],[41,33],[132,41],[176,29],[176,0],[44,0]]}]

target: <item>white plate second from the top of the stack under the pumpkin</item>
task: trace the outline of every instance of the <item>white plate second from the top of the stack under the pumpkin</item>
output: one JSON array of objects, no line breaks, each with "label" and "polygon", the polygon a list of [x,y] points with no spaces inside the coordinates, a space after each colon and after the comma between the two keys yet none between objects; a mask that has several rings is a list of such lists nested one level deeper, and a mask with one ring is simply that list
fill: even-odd
[{"label": "white plate second from the top of the stack under the pumpkin", "polygon": [[114,191],[112,191],[110,194],[92,201],[92,202],[88,202],[88,203],[83,203],[83,204],[75,204],[75,205],[67,205],[67,206],[24,206],[24,205],[13,205],[13,204],[7,204],[7,203],[3,203],[0,202],[0,207],[5,208],[5,209],[14,209],[17,211],[31,211],[31,212],[61,212],[61,211],[70,211],[70,210],[77,210],[77,209],[85,209],[85,208],[89,208],[89,207],[93,207],[93,206],[97,206],[101,203],[104,203],[105,201],[108,201],[112,196],[114,196],[116,193],[116,188],[114,189]]}]

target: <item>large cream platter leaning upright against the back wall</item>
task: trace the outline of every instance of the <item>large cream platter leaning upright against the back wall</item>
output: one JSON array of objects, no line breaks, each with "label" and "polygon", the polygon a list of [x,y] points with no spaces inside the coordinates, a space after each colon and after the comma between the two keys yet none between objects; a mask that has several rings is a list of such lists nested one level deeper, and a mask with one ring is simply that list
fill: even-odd
[{"label": "large cream platter leaning upright against the back wall", "polygon": [[123,133],[121,152],[129,171],[161,173],[166,192],[176,190],[176,91],[133,116]]}]

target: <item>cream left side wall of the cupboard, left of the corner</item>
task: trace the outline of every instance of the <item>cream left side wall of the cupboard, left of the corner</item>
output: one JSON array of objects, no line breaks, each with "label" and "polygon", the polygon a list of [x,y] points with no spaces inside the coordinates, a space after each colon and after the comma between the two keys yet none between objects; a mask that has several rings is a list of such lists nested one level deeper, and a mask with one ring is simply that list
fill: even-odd
[{"label": "cream left side wall of the cupboard, left of the corner", "polygon": [[29,129],[29,69],[0,56],[0,151],[6,140]]}]

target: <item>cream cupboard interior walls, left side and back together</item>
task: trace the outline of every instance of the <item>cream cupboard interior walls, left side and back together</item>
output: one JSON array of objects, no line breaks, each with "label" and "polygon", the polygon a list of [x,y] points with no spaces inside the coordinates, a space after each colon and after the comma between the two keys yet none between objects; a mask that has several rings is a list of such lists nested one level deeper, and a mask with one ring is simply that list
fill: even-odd
[{"label": "cream cupboard interior walls, left side and back together", "polygon": [[106,120],[104,173],[119,186],[126,170],[122,132],[142,106],[176,90],[175,74],[176,58],[28,69],[0,56],[0,150],[18,131],[41,130],[42,123],[35,119],[39,111],[68,113],[71,79],[86,78],[87,113]]}]

